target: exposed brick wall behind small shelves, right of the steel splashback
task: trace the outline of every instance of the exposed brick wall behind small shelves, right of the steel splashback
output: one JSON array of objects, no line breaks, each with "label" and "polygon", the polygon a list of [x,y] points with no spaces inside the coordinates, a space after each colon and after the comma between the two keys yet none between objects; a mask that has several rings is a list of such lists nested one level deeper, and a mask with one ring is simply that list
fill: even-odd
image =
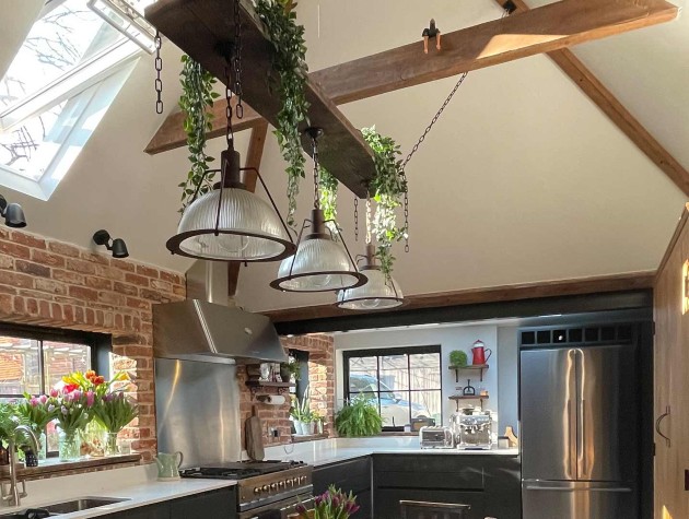
[{"label": "exposed brick wall behind small shelves, right of the steel splashback", "polygon": [[[335,346],[331,337],[303,335],[282,338],[282,345],[289,350],[308,352],[308,384],[311,386],[311,406],[326,416],[326,433],[332,434],[335,413]],[[252,406],[256,405],[258,416],[264,426],[264,444],[278,445],[290,441],[290,399],[283,405],[269,405],[258,402],[246,387],[246,368],[237,368],[240,382],[240,406],[242,415],[242,445],[244,446],[244,423],[252,415]],[[276,390],[261,391],[259,394],[277,394]],[[269,429],[277,428],[279,438],[269,437]]]}]

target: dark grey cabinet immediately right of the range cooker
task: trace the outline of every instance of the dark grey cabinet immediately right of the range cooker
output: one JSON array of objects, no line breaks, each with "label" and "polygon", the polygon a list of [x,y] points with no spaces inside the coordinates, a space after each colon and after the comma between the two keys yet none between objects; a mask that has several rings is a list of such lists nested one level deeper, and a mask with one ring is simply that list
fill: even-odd
[{"label": "dark grey cabinet immediately right of the range cooker", "polygon": [[371,457],[330,463],[314,468],[314,495],[323,494],[328,486],[335,485],[346,493],[353,493],[361,507],[352,519],[371,519],[372,488],[371,488]]}]

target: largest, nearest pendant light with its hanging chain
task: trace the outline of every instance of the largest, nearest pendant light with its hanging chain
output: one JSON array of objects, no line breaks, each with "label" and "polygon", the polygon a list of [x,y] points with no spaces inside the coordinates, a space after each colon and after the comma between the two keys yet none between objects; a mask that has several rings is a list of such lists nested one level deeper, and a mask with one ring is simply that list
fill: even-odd
[{"label": "largest, nearest pendant light with its hanging chain", "polygon": [[[235,59],[241,57],[237,55]],[[206,260],[278,261],[292,256],[296,246],[260,173],[253,167],[240,167],[240,153],[234,150],[232,132],[229,58],[225,74],[227,150],[221,154],[221,168],[207,172],[220,170],[221,180],[201,197],[198,197],[201,187],[199,182],[191,203],[182,215],[177,234],[167,240],[166,247],[172,253]],[[237,83],[238,81],[235,82],[235,91],[241,92],[242,86]],[[240,118],[241,106],[240,101]],[[256,173],[270,204],[246,189],[241,180],[241,172],[246,170]]]}]

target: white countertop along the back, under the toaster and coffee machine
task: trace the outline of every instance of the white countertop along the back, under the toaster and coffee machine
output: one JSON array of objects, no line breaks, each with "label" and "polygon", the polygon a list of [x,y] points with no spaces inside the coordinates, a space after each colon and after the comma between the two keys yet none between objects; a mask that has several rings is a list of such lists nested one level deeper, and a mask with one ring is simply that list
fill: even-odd
[{"label": "white countertop along the back, under the toaster and coffee machine", "polygon": [[266,457],[280,460],[301,460],[314,467],[336,463],[371,455],[429,456],[510,456],[518,449],[458,450],[421,449],[417,437],[330,438],[293,446],[267,447]]}]

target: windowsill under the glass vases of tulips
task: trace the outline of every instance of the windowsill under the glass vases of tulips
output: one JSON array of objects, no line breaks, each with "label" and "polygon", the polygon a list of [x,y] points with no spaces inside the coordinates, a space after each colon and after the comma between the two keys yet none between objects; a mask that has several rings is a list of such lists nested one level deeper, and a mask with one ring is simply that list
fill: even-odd
[{"label": "windowsill under the glass vases of tulips", "polygon": [[[22,480],[43,480],[59,475],[131,467],[140,462],[140,453],[90,458],[79,461],[59,461],[57,458],[48,458],[40,461],[38,467],[17,467],[16,476]],[[0,480],[5,480],[9,476],[10,468],[8,465],[0,467]]]}]

